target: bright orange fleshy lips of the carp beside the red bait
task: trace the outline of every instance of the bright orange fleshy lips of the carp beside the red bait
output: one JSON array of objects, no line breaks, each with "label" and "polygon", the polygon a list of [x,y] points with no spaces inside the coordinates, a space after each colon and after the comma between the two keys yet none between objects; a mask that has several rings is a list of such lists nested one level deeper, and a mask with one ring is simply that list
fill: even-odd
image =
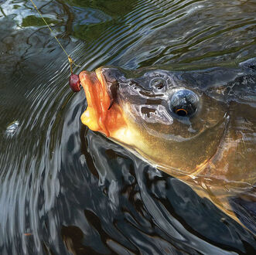
[{"label": "bright orange fleshy lips of the carp beside the red bait", "polygon": [[99,131],[107,137],[113,136],[115,131],[126,124],[118,104],[113,104],[108,110],[111,97],[108,94],[102,70],[82,71],[79,79],[87,97],[87,109],[81,116],[82,123],[92,131]]}]

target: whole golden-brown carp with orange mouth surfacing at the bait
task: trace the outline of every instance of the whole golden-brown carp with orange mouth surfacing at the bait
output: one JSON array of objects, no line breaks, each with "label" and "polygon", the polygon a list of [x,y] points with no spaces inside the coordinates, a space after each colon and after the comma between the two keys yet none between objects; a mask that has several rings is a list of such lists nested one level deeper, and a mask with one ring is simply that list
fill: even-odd
[{"label": "whole golden-brown carp with orange mouth surfacing at the bait", "polygon": [[229,198],[255,203],[256,59],[189,71],[101,67],[81,72],[80,82],[87,97],[81,121],[91,130],[237,221]]}]

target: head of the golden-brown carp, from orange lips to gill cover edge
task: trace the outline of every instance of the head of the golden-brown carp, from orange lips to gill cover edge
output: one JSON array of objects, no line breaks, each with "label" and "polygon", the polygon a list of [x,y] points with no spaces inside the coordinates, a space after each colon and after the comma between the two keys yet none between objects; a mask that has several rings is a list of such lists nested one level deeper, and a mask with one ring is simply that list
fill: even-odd
[{"label": "head of the golden-brown carp, from orange lips to gill cover edge", "polygon": [[81,72],[80,82],[81,121],[171,175],[199,172],[224,138],[227,104],[179,72],[101,67]]}]

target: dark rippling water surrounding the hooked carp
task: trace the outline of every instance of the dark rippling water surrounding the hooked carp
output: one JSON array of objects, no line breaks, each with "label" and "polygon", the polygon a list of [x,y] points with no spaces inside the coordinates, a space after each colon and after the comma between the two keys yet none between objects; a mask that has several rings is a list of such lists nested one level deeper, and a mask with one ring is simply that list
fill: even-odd
[{"label": "dark rippling water surrounding the hooked carp", "polygon": [[[253,1],[37,1],[75,71],[234,65]],[[0,0],[0,253],[255,253],[254,236],[177,179],[80,124],[67,56],[30,1]]]}]

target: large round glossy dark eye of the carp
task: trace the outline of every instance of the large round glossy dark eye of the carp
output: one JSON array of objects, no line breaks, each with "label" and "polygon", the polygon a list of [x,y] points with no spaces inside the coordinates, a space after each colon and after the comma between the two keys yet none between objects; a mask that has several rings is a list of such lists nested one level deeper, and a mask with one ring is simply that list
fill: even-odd
[{"label": "large round glossy dark eye of the carp", "polygon": [[179,90],[172,95],[170,108],[180,117],[190,117],[196,113],[199,98],[191,90]]}]

